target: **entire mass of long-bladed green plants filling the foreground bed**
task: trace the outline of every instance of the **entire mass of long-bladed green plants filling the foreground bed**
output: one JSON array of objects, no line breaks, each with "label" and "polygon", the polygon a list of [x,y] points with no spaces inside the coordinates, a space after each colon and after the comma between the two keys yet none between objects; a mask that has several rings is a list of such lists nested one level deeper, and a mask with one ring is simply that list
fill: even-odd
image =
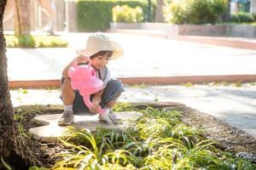
[{"label": "entire mass of long-bladed green plants filling the foreground bed", "polygon": [[[137,110],[131,105],[125,110]],[[118,107],[120,108],[120,106]],[[128,109],[129,108],[129,109]],[[181,122],[179,111],[148,107],[123,131],[95,132],[70,127],[61,139],[69,150],[55,169],[255,169],[256,165],[222,152],[201,129]]]}]

